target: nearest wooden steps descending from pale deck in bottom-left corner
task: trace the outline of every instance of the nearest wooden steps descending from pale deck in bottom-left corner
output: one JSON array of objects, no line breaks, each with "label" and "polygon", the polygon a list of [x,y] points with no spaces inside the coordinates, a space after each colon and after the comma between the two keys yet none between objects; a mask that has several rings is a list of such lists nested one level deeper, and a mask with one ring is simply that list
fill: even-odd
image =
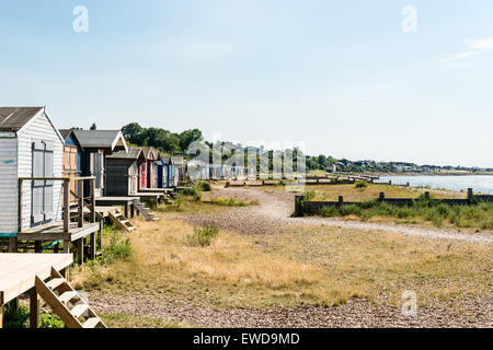
[{"label": "nearest wooden steps descending from pale deck in bottom-left corner", "polygon": [[47,282],[36,276],[36,292],[68,328],[106,328],[88,303],[54,268]]}]

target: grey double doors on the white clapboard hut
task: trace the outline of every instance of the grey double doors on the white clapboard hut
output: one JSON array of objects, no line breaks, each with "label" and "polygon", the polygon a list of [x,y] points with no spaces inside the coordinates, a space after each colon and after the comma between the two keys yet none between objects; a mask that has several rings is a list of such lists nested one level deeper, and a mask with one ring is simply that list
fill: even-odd
[{"label": "grey double doors on the white clapboard hut", "polygon": [[31,190],[31,225],[49,221],[54,217],[53,180],[54,176],[54,145],[50,141],[34,141],[32,143],[32,176],[45,177],[32,182]]}]

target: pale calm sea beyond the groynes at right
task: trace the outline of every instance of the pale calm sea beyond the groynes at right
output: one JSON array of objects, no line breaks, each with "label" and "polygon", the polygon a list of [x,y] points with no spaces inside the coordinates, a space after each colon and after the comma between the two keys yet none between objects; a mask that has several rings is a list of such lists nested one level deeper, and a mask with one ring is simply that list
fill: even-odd
[{"label": "pale calm sea beyond the groynes at right", "polygon": [[438,175],[419,175],[419,176],[382,176],[379,183],[388,183],[410,186],[429,186],[431,188],[445,188],[450,190],[467,190],[472,188],[474,192],[493,195],[493,176],[492,175],[455,175],[455,176],[438,176]]}]

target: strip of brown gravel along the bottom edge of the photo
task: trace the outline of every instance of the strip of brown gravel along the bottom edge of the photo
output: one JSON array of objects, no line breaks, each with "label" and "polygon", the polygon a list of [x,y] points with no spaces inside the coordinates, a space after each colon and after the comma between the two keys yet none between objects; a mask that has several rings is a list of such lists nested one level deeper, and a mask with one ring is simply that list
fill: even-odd
[{"label": "strip of brown gravel along the bottom edge of the photo", "polygon": [[[381,327],[460,327],[491,328],[493,299],[460,301],[433,307],[417,307],[414,316],[405,316],[399,307],[377,305],[365,299],[347,304],[321,307],[301,305],[290,308],[197,307],[186,303],[163,303],[152,296],[105,298],[91,294],[91,305],[100,313],[142,314],[194,327],[245,328],[381,328]],[[486,305],[486,307],[484,307]],[[460,310],[460,311],[459,311]]]}]

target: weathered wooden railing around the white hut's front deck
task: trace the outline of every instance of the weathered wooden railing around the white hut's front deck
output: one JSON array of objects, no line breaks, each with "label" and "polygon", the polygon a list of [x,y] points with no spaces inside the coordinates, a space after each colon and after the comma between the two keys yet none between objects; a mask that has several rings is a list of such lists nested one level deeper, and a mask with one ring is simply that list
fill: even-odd
[{"label": "weathered wooden railing around the white hut's front deck", "polygon": [[[95,222],[96,211],[95,211],[95,187],[94,187],[94,176],[85,177],[19,177],[19,203],[18,203],[18,232],[22,232],[22,205],[23,205],[23,188],[22,184],[24,182],[44,180],[44,182],[62,182],[62,220],[64,220],[64,232],[68,233],[70,230],[70,194],[77,199],[77,223],[79,228],[84,224],[84,208],[89,208],[89,221]],[[70,190],[70,183],[77,183],[77,194]],[[89,185],[89,197],[84,198],[84,182]]]}]

